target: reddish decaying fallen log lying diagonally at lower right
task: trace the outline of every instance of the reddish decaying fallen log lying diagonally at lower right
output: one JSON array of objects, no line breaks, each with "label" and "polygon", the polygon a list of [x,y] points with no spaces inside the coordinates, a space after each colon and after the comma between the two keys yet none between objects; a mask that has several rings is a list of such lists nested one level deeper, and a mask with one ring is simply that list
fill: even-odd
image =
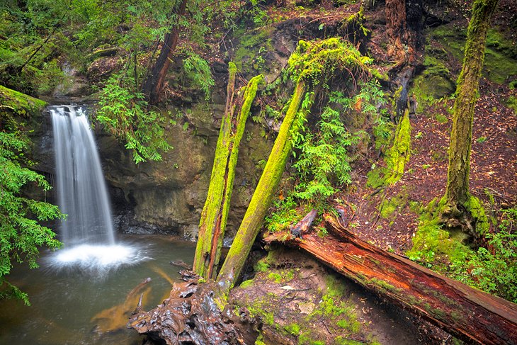
[{"label": "reddish decaying fallen log lying diagonally at lower right", "polygon": [[[517,344],[517,305],[439,275],[368,244],[325,217],[329,234],[298,239],[273,234],[266,242],[304,249],[341,275],[428,319],[459,339],[479,344]],[[287,238],[287,239],[286,239]]]}]

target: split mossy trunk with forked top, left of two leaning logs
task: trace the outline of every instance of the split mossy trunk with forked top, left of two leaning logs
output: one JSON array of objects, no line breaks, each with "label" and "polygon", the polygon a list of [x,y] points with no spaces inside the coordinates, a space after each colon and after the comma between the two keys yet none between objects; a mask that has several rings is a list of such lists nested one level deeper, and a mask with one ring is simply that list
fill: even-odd
[{"label": "split mossy trunk with forked top, left of two leaning logs", "polygon": [[[237,67],[230,62],[226,110],[215,149],[208,195],[201,213],[198,245],[194,257],[193,269],[203,278],[215,278],[226,229],[229,200],[232,197],[239,144],[258,84],[263,82],[262,74],[252,78],[248,86],[242,89],[234,99],[236,74]],[[235,115],[236,111],[237,115]]]}]

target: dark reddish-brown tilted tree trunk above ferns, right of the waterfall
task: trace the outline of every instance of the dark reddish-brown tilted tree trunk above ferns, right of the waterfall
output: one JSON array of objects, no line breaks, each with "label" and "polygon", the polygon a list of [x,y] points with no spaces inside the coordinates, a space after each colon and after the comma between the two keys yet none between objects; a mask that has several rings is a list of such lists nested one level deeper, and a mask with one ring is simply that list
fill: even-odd
[{"label": "dark reddish-brown tilted tree trunk above ferns, right of the waterfall", "polygon": [[161,47],[158,60],[152,67],[151,74],[145,79],[142,85],[142,92],[146,95],[149,103],[158,103],[161,100],[161,91],[165,87],[165,77],[171,65],[172,55],[178,45],[179,40],[179,21],[185,16],[187,0],[181,0],[176,11],[176,24],[171,28],[171,32],[165,35],[164,45]]}]

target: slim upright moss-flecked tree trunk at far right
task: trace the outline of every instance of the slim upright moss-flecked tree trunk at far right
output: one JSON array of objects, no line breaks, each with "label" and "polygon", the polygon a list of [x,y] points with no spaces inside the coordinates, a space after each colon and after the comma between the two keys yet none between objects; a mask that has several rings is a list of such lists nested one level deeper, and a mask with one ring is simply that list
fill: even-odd
[{"label": "slim upright moss-flecked tree trunk at far right", "polygon": [[497,0],[476,0],[472,7],[465,58],[456,89],[453,129],[450,133],[449,167],[443,211],[443,215],[448,218],[459,218],[470,198],[470,149],[476,93],[483,67],[487,30],[496,5]]}]

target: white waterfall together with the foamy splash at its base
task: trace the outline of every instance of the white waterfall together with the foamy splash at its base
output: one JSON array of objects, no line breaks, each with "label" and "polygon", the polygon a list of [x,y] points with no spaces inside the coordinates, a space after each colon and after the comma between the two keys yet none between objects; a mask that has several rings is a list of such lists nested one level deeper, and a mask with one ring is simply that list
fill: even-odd
[{"label": "white waterfall together with the foamy splash at its base", "polygon": [[67,215],[60,225],[64,249],[55,266],[106,271],[144,258],[135,249],[115,243],[110,201],[85,108],[52,106],[59,208]]}]

